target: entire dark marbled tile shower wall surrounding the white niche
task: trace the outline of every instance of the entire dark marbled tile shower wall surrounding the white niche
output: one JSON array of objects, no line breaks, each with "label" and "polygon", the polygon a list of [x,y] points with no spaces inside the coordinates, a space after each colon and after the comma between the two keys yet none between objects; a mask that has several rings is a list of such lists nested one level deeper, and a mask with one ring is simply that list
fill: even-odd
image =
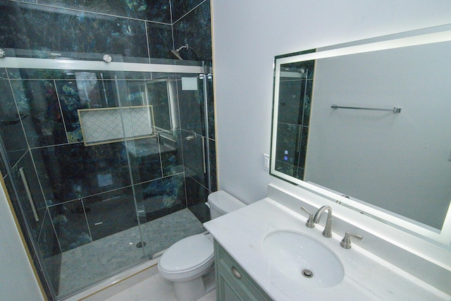
[{"label": "entire dark marbled tile shower wall surrounding the white niche", "polygon": [[[98,59],[108,53],[125,62],[168,63],[175,59],[171,49],[189,44],[197,56],[183,50],[181,55],[211,66],[208,0],[8,0],[0,3],[0,19],[0,48],[8,56],[47,58],[51,52],[66,51],[80,58]],[[0,135],[8,165],[13,166],[8,169],[1,160],[0,169],[11,198],[16,197],[11,193],[11,177],[20,185],[19,166],[25,171],[39,221],[27,205],[22,209],[32,225],[40,255],[49,263],[44,273],[51,275],[56,288],[55,263],[61,252],[187,206],[201,221],[209,219],[203,205],[209,193],[208,173],[202,168],[202,149],[207,144],[211,191],[216,190],[211,78],[206,87],[209,133],[205,133],[204,107],[198,102],[204,92],[202,80],[196,92],[187,92],[181,89],[180,75],[127,72],[118,80],[117,95],[112,74],[87,73],[92,78],[80,80],[61,70],[0,69]],[[119,102],[122,106],[142,104],[140,97],[130,93],[133,80],[162,76],[174,80],[178,87],[180,129],[129,145],[83,145],[77,109],[114,107]],[[96,85],[103,86],[93,90],[88,103],[78,82],[89,85],[94,78]],[[187,139],[192,131],[204,140]],[[154,155],[140,156],[142,147]],[[24,191],[21,186],[18,190]],[[13,199],[13,203],[18,201]],[[144,215],[137,216],[137,210],[144,210]]]}]

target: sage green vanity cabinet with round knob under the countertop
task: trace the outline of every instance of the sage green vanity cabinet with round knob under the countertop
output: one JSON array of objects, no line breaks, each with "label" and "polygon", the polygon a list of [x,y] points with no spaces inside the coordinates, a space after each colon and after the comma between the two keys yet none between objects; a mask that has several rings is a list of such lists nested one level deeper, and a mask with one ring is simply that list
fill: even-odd
[{"label": "sage green vanity cabinet with round knob under the countertop", "polygon": [[272,300],[216,240],[214,242],[214,256],[216,300]]}]

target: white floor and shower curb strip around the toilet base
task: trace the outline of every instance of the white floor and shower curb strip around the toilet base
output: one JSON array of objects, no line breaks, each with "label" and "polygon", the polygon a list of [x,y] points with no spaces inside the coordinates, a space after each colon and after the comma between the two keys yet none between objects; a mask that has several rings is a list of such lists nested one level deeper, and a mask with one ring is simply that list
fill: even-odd
[{"label": "white floor and shower curb strip around the toilet base", "polygon": [[[158,274],[156,265],[147,268],[137,266],[136,269],[138,271],[135,274],[126,276],[112,285],[90,288],[69,297],[66,301],[176,301],[173,283],[166,281]],[[216,300],[216,290],[199,299],[199,301],[214,300]]]}]

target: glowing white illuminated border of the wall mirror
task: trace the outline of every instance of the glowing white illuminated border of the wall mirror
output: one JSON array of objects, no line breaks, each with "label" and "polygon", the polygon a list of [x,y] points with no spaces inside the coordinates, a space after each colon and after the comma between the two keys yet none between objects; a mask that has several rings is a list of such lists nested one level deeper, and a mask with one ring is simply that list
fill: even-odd
[{"label": "glowing white illuminated border of the wall mirror", "polygon": [[[322,47],[316,50],[316,52],[297,52],[295,54],[285,54],[276,56],[274,62],[274,87],[273,87],[273,124],[271,133],[271,165],[270,174],[276,176],[295,185],[314,192],[317,195],[330,199],[331,202],[342,204],[345,207],[359,211],[360,213],[373,217],[383,223],[388,223],[395,228],[400,228],[402,231],[426,238],[426,240],[440,244],[447,250],[451,250],[451,202],[448,207],[445,221],[443,222],[442,230],[434,229],[426,225],[421,226],[421,223],[412,222],[407,218],[402,219],[395,214],[389,214],[388,211],[378,209],[378,207],[371,207],[367,204],[348,199],[331,190],[307,183],[304,180],[299,180],[292,176],[288,176],[285,173],[276,171],[276,140],[278,130],[278,95],[279,95],[279,83],[280,83],[280,66],[285,63],[295,63],[299,61],[310,61],[316,59],[330,58],[333,56],[346,56],[350,54],[361,54],[365,52],[381,51],[385,49],[395,49],[409,46],[416,46],[422,44],[433,44],[438,42],[450,42],[451,41],[451,24],[441,25],[437,27],[430,27],[421,30],[414,30],[409,32],[402,32],[395,35],[387,35],[382,37],[375,37],[371,39],[364,39],[357,42],[349,42],[345,44],[338,44],[330,47]],[[426,228],[426,227],[427,228]]]}]

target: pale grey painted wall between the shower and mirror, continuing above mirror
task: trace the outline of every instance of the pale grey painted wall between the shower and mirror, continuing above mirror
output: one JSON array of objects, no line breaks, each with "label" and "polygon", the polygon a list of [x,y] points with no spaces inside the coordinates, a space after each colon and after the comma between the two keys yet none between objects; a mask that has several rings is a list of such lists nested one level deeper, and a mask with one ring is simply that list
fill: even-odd
[{"label": "pale grey painted wall between the shower and mirror, continuing above mirror", "polygon": [[219,188],[251,203],[278,181],[263,168],[271,144],[274,56],[443,25],[451,4],[213,0],[211,14]]}]

